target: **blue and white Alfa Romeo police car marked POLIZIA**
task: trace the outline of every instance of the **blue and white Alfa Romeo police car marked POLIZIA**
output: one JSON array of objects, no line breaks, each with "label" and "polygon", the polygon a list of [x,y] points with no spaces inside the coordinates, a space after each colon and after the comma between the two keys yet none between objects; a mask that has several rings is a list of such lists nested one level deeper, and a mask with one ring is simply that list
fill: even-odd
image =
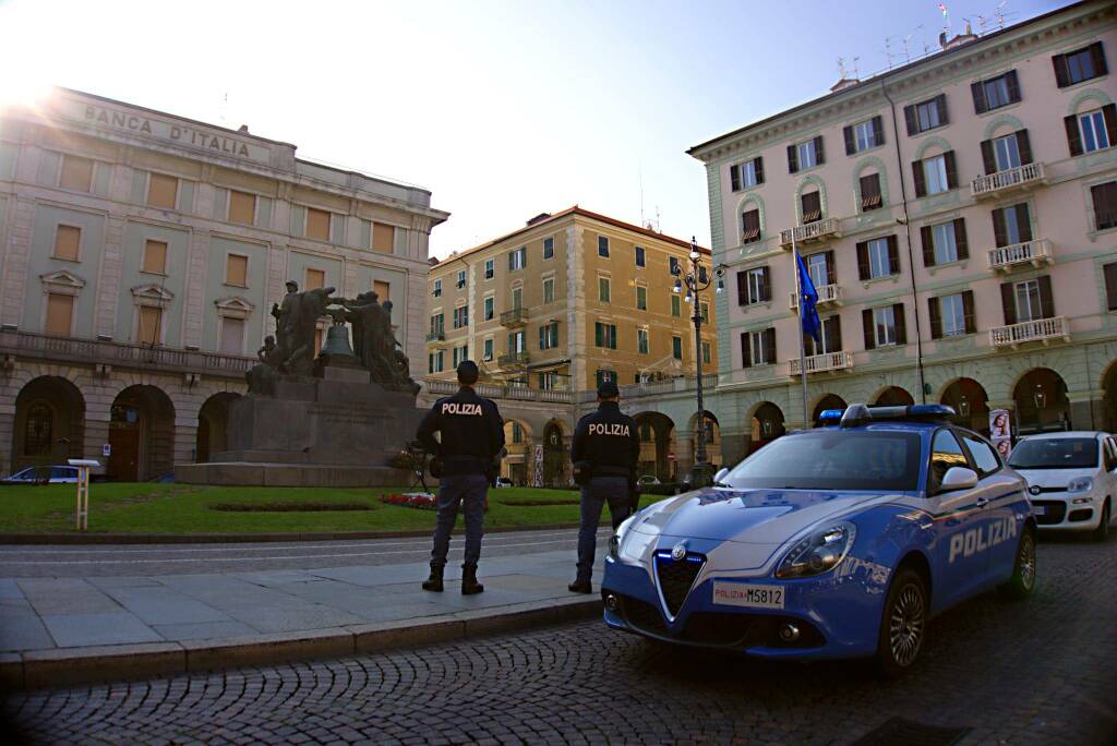
[{"label": "blue and white Alfa Romeo police car marked POLIZIA", "polygon": [[825,411],[715,487],[643,508],[610,542],[605,623],[765,658],[876,657],[901,675],[933,614],[1035,585],[1023,479],[953,414]]}]

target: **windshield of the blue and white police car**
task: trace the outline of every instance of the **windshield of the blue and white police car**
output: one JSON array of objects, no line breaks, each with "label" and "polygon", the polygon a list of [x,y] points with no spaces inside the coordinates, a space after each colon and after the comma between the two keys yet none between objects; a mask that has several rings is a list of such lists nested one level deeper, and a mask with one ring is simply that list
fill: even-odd
[{"label": "windshield of the blue and white police car", "polygon": [[742,489],[916,490],[920,450],[914,432],[815,430],[770,442],[723,484]]}]

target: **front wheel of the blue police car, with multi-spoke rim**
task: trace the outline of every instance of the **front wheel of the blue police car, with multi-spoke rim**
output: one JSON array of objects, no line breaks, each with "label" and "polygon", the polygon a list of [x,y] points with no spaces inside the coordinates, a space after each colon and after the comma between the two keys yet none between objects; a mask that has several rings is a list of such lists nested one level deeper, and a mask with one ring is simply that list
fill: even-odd
[{"label": "front wheel of the blue police car, with multi-spoke rim", "polygon": [[877,639],[876,669],[882,679],[897,679],[919,659],[927,638],[930,599],[919,573],[901,567],[885,599]]}]

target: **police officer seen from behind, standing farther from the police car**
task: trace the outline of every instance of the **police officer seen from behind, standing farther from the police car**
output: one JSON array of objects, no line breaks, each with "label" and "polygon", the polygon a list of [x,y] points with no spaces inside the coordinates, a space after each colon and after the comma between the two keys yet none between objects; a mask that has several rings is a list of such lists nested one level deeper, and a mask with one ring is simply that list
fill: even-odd
[{"label": "police officer seen from behind, standing farther from the police car", "polygon": [[[477,561],[481,556],[485,496],[493,477],[493,461],[504,448],[504,421],[496,404],[474,391],[477,363],[467,360],[458,365],[458,383],[461,385],[458,393],[435,402],[416,436],[423,449],[435,455],[431,474],[440,479],[430,577],[422,587],[442,592],[450,532],[458,518],[458,506],[465,504],[466,562],[461,565],[461,593],[471,595],[485,590],[477,582]],[[441,433],[440,440],[435,440],[436,432]]]}]

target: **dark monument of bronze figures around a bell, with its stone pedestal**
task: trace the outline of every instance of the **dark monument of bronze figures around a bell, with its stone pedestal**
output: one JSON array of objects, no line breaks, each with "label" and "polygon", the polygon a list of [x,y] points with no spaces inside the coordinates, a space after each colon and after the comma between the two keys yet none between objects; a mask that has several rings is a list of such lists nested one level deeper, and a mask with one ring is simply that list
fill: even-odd
[{"label": "dark monument of bronze figures around a bell, with its stone pedestal", "polygon": [[[207,463],[175,466],[201,485],[379,487],[403,485],[390,467],[419,425],[419,391],[392,332],[391,302],[375,293],[334,297],[334,288],[287,295],[271,307],[275,336],[257,352],[248,395],[229,405],[227,450]],[[318,355],[318,321],[332,324]],[[349,326],[353,327],[350,344]]]}]

